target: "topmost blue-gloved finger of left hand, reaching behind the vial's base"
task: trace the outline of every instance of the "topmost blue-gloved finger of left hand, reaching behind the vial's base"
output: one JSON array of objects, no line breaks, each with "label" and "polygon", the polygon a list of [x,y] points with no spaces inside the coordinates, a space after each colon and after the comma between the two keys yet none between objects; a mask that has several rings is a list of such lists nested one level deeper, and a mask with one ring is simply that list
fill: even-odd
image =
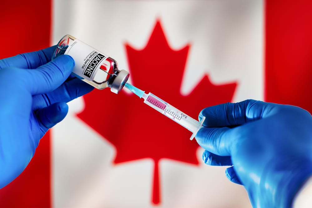
[{"label": "topmost blue-gloved finger of left hand, reaching behind the vial's base", "polygon": [[0,70],[6,67],[17,67],[23,69],[36,69],[51,61],[56,46],[51,46],[39,51],[18,54],[0,60]]}]

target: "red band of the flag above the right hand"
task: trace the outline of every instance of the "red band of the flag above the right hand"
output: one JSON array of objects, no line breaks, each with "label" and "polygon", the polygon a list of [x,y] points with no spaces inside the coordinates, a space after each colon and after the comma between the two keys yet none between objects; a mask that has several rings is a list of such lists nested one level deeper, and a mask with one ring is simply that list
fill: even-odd
[{"label": "red band of the flag above the right hand", "polygon": [[312,1],[265,6],[265,100],[312,112]]}]

